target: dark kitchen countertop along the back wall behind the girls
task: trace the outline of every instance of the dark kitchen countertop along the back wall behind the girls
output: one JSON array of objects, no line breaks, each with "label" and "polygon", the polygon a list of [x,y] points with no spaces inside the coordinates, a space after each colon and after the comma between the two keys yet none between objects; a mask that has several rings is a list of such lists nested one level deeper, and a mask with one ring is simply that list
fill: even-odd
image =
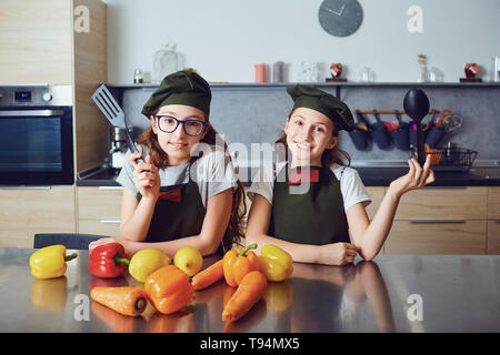
[{"label": "dark kitchen countertop along the back wall behind the girls", "polygon": [[[408,168],[354,166],[366,186],[389,186],[391,181],[408,173]],[[250,174],[249,174],[250,175]],[[79,179],[77,186],[119,186],[118,175],[100,170],[87,179]],[[249,186],[250,183],[243,182]],[[436,171],[436,182],[429,186],[500,186],[500,166],[471,168],[469,172]]]}]

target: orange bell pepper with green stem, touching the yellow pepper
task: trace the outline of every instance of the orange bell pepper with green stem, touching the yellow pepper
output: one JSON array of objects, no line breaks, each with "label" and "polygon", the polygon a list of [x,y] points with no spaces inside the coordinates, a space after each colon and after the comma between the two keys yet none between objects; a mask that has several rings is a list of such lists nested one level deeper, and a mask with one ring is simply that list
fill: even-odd
[{"label": "orange bell pepper with green stem, touching the yellow pepper", "polygon": [[256,247],[257,244],[250,244],[246,248],[231,250],[224,254],[223,268],[228,285],[236,287],[249,272],[260,270],[259,258],[250,251]]}]

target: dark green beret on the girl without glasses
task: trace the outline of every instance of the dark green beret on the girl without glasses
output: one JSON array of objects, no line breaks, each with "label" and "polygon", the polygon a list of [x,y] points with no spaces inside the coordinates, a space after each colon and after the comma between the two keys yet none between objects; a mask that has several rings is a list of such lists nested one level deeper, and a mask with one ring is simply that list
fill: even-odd
[{"label": "dark green beret on the girl without glasses", "polygon": [[354,119],[348,105],[336,97],[308,85],[294,85],[287,89],[293,99],[293,110],[308,108],[323,113],[336,124],[337,131],[352,131]]}]

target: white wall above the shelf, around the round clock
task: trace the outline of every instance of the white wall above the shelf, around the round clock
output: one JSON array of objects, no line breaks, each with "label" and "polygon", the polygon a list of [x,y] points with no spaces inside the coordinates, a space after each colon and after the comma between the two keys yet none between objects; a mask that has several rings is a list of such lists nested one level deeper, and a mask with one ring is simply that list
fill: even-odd
[{"label": "white wall above the shelf, around the round clock", "polygon": [[[500,0],[359,0],[364,18],[347,38],[322,30],[322,0],[104,0],[108,4],[108,79],[132,82],[133,70],[152,71],[154,52],[173,41],[184,67],[209,81],[253,82],[253,63],[282,60],[288,81],[302,60],[317,61],[327,75],[331,62],[348,68],[350,81],[363,67],[379,82],[418,78],[417,54],[443,72],[447,82],[477,62],[490,80],[500,55]],[[409,33],[407,10],[423,10],[423,33]],[[181,69],[181,68],[179,68]]]}]

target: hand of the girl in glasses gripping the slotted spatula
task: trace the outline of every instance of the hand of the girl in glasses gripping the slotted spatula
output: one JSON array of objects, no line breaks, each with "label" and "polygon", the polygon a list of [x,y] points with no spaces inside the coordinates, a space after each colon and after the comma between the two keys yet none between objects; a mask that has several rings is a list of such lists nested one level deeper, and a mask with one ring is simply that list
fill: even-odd
[{"label": "hand of the girl in glasses gripping the slotted spatula", "polygon": [[138,163],[136,160],[141,158],[141,153],[133,153],[129,155],[129,162],[133,169],[133,184],[142,195],[142,199],[158,200],[160,194],[160,174],[158,168],[148,155],[143,163]]}]

